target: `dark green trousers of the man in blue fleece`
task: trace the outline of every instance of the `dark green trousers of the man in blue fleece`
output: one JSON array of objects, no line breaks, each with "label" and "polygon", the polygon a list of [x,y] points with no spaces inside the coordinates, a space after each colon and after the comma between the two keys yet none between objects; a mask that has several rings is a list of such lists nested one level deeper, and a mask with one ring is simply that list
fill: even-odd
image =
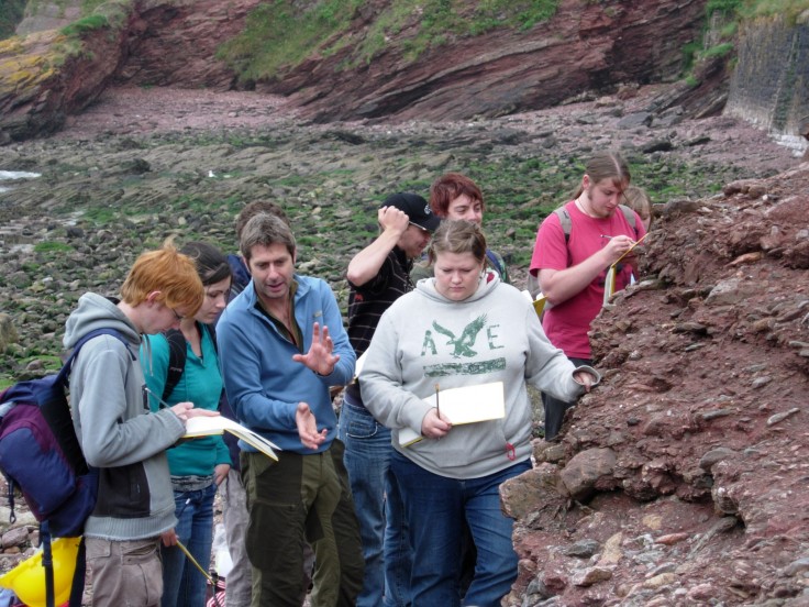
[{"label": "dark green trousers of the man in blue fleece", "polygon": [[314,549],[312,607],[353,607],[365,563],[343,443],[322,453],[241,453],[253,565],[252,607],[300,607],[303,541]]}]

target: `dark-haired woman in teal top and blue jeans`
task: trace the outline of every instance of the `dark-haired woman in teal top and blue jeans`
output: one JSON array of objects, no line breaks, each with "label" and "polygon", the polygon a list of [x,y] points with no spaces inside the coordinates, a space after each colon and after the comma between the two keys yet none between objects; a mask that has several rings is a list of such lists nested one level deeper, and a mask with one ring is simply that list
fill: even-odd
[{"label": "dark-haired woman in teal top and blue jeans", "polygon": [[[228,304],[231,269],[228,260],[207,243],[190,242],[182,249],[197,264],[206,299],[193,318],[181,318],[179,331],[151,335],[141,345],[149,407],[191,401],[197,408],[218,410],[222,376],[212,323]],[[177,312],[175,312],[176,314]],[[185,346],[185,365],[179,380],[164,395],[169,375],[169,351]],[[180,356],[181,360],[181,356]],[[213,497],[228,476],[231,459],[221,435],[185,441],[168,450],[168,467],[176,503],[177,527],[163,538],[163,607],[203,607],[206,578],[182,551],[181,542],[198,563],[211,561]]]}]

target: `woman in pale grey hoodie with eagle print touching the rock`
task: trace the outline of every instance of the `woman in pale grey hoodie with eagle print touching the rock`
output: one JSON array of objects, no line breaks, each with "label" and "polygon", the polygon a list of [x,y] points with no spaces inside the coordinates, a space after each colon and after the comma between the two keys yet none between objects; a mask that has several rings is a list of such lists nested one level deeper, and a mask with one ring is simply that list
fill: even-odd
[{"label": "woman in pale grey hoodie with eagle print touching the rock", "polygon": [[[431,254],[435,277],[420,280],[383,314],[359,383],[370,412],[392,429],[391,468],[414,551],[413,604],[461,605],[466,519],[478,558],[464,604],[495,607],[517,577],[512,521],[500,511],[499,486],[531,467],[527,385],[575,400],[600,376],[576,368],[548,342],[528,298],[485,269],[486,240],[477,225],[444,221]],[[436,389],[490,383],[502,383],[501,419],[453,426],[433,405]],[[422,440],[403,446],[400,434],[408,432]]]}]

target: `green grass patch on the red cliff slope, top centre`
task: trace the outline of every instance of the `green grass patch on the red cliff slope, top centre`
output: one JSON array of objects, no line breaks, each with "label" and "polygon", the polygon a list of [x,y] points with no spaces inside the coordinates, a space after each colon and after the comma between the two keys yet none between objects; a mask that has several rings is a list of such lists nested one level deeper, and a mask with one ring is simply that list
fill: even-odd
[{"label": "green grass patch on the red cliff slope, top centre", "polygon": [[329,56],[352,44],[344,69],[368,64],[396,45],[406,59],[415,60],[452,38],[495,27],[530,29],[551,19],[557,5],[558,0],[394,0],[361,30],[362,38],[352,38],[352,21],[363,19],[361,0],[321,0],[303,9],[275,0],[254,9],[244,31],[223,44],[217,57],[242,80],[279,77],[307,57]]}]

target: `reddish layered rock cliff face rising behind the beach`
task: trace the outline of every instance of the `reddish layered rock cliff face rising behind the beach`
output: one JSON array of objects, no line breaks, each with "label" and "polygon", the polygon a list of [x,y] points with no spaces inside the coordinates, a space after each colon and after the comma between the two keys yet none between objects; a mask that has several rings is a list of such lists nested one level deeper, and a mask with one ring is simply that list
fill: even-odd
[{"label": "reddish layered rock cliff face rising behind the beach", "polygon": [[[97,52],[93,45],[100,41],[90,41],[91,53],[63,66],[58,77],[25,86],[16,82],[14,66],[0,60],[0,130],[7,140],[31,136],[58,128],[65,115],[81,111],[93,96],[71,97],[66,81],[89,78],[78,88],[98,89],[114,75],[119,82],[141,86],[232,88],[235,75],[213,55],[241,31],[245,15],[258,3],[136,1],[123,32],[113,36],[115,48]],[[674,78],[683,46],[699,35],[705,4],[706,0],[630,0],[610,5],[563,0],[551,22],[528,32],[498,30],[461,38],[415,62],[404,59],[391,45],[372,64],[341,70],[340,63],[354,51],[350,44],[334,56],[311,57],[281,81],[255,86],[289,96],[317,121],[468,119],[546,108],[621,82]],[[358,11],[347,37],[362,40],[374,14],[374,3]],[[399,35],[407,34],[406,29]],[[0,47],[0,59],[32,52],[36,51],[23,41],[14,51]],[[20,103],[15,97],[29,102]]]}]

